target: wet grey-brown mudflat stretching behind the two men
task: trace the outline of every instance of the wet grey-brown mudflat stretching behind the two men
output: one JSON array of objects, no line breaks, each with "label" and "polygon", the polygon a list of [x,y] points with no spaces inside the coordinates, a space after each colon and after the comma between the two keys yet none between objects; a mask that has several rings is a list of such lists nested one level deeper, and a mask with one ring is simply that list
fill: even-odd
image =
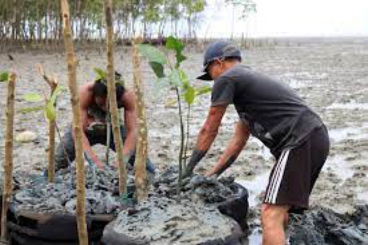
[{"label": "wet grey-brown mudflat stretching behind the two men", "polygon": [[[201,69],[202,54],[187,50],[184,62],[188,76],[194,78]],[[67,86],[67,66],[61,54],[28,52],[12,54],[18,73],[16,109],[38,106],[22,99],[25,93],[48,93],[48,87],[37,74],[35,65],[41,63],[48,73],[54,73]],[[131,50],[118,48],[115,56],[117,71],[124,74],[128,89],[132,87]],[[323,119],[329,129],[331,150],[311,195],[311,205],[332,208],[336,212],[351,212],[355,204],[368,201],[368,40],[367,39],[298,39],[279,42],[276,46],[256,47],[243,51],[243,63],[279,78],[291,86]],[[78,83],[95,77],[93,67],[106,67],[105,53],[78,50]],[[0,55],[0,71],[12,67],[7,55]],[[151,69],[142,61],[145,100],[149,128],[149,156],[159,170],[177,164],[180,142],[177,107],[165,107],[175,98],[174,91],[153,86]],[[194,81],[194,79],[193,79]],[[205,84],[196,81],[198,86]],[[208,83],[209,85],[211,83]],[[0,83],[0,159],[3,161],[6,84]],[[201,97],[192,108],[190,120],[190,149],[206,118],[210,95]],[[185,109],[185,108],[184,108]],[[58,103],[57,123],[63,131],[71,122],[68,93]],[[205,172],[215,164],[234,133],[238,116],[232,106],[226,112],[216,141],[196,171]],[[15,143],[15,170],[43,170],[46,166],[47,124],[42,112],[17,113],[15,134],[24,130],[36,133],[31,143]],[[59,141],[57,139],[57,141]],[[103,147],[96,146],[103,157]],[[190,154],[191,151],[188,152]],[[262,192],[274,164],[268,149],[255,138],[224,175],[233,175],[250,191],[251,212],[259,212]]]}]

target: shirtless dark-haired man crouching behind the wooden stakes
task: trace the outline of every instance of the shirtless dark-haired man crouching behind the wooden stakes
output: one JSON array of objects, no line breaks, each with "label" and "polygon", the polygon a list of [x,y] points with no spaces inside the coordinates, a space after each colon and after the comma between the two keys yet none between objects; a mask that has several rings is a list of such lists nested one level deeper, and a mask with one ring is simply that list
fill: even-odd
[{"label": "shirtless dark-haired man crouching behind the wooden stakes", "polygon": [[[120,80],[120,74],[116,73],[116,81]],[[134,104],[134,93],[127,90],[123,84],[116,84],[116,99],[118,108],[124,109],[124,125],[121,124],[120,132],[124,142],[123,153],[132,166],[135,159],[135,146],[137,142],[137,114]],[[107,87],[105,80],[96,80],[86,83],[79,89],[81,117],[83,126],[83,151],[88,154],[92,162],[103,169],[103,163],[93,152],[92,146],[103,144],[115,151],[112,130],[110,129],[110,142],[107,143]],[[59,144],[55,152],[56,170],[68,167],[68,160],[74,161],[74,132],[68,127],[63,137],[63,143]],[[64,148],[65,147],[65,148]],[[116,165],[116,163],[115,163]],[[147,159],[147,170],[155,172],[151,161]]]}]

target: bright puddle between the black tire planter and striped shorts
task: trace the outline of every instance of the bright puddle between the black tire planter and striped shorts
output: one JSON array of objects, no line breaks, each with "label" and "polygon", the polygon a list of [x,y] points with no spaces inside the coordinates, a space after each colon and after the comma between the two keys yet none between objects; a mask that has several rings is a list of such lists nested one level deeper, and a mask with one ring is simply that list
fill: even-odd
[{"label": "bright puddle between the black tire planter and striped shorts", "polygon": [[251,180],[236,179],[235,182],[247,188],[249,197],[248,202],[250,207],[258,205],[257,197],[262,191],[266,190],[268,183],[269,171],[258,174]]}]

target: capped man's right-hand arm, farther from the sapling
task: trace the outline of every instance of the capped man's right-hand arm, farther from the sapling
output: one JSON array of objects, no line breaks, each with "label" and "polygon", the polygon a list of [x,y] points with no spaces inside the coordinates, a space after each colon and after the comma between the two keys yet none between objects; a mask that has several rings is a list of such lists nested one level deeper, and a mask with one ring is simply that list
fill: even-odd
[{"label": "capped man's right-hand arm, farther from the sapling", "polygon": [[250,129],[242,120],[239,120],[235,126],[235,136],[231,139],[226,150],[220,156],[216,165],[206,173],[206,176],[222,174],[238,157],[241,150],[244,148],[250,135]]}]

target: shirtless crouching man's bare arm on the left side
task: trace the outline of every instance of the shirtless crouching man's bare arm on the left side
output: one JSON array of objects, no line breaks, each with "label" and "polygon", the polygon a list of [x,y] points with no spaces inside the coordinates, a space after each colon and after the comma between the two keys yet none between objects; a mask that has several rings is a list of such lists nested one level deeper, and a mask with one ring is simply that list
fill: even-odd
[{"label": "shirtless crouching man's bare arm on the left side", "polygon": [[[87,114],[88,105],[92,102],[92,94],[91,94],[91,86],[92,83],[87,83],[79,89],[79,101],[81,107],[81,119],[82,119],[82,144],[83,151],[86,151],[88,155],[91,157],[92,161],[96,164],[100,169],[103,168],[102,162],[98,159],[97,155],[92,151],[91,144],[88,141],[88,138],[85,134],[85,130],[88,126],[89,118]],[[72,130],[72,137],[75,141],[75,132]]]}]

